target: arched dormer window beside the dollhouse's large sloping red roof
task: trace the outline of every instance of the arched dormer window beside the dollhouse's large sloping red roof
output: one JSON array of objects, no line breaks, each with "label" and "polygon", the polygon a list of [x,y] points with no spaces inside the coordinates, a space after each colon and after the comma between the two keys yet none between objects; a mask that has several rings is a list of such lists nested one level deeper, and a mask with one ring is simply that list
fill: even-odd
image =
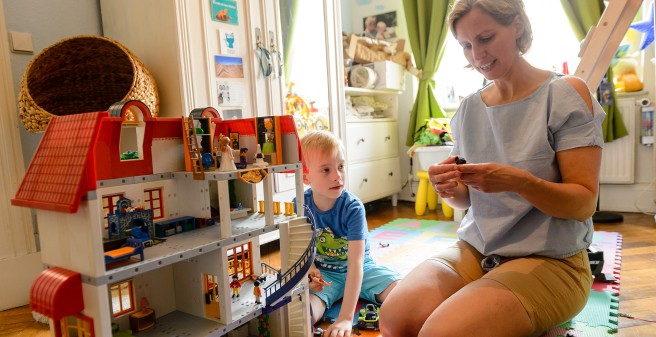
[{"label": "arched dormer window beside the dollhouse's large sloping red roof", "polygon": [[138,107],[129,107],[123,116],[119,148],[121,160],[143,159],[143,141],[146,123]]}]

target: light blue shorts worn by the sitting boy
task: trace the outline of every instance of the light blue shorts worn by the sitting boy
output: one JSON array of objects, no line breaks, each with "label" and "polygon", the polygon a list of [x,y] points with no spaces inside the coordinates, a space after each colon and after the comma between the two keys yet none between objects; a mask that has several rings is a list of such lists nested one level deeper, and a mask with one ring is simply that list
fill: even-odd
[{"label": "light blue shorts worn by the sitting boy", "polygon": [[[382,293],[394,281],[401,279],[401,275],[392,269],[376,264],[371,257],[364,260],[364,275],[362,277],[362,288],[360,289],[360,298],[369,302],[379,304],[376,301],[376,295]],[[321,277],[326,282],[332,282],[330,287],[325,286],[320,292],[310,291],[311,294],[317,295],[324,303],[326,309],[342,297],[344,297],[344,285],[346,284],[346,273],[335,272],[319,268]]]}]

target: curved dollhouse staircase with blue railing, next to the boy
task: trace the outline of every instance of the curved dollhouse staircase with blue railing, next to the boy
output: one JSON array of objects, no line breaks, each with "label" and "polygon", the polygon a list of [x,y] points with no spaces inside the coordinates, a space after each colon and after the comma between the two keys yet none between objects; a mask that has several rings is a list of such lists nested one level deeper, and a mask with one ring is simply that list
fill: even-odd
[{"label": "curved dollhouse staircase with blue railing, next to the boy", "polygon": [[307,272],[314,263],[316,252],[314,226],[305,217],[292,219],[289,221],[287,237],[289,241],[287,265],[291,267],[283,270],[278,280],[264,289],[267,307],[265,311],[273,311],[288,304],[290,320],[288,336],[307,336],[308,331],[311,330],[307,299],[292,297],[289,294],[299,283],[307,282]]}]

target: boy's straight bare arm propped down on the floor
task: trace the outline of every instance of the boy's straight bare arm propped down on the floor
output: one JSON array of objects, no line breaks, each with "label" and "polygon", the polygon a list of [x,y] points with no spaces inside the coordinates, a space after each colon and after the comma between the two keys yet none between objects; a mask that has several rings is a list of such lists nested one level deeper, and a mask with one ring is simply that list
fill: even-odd
[{"label": "boy's straight bare arm propped down on the floor", "polygon": [[338,329],[350,332],[353,328],[353,313],[358,304],[364,275],[364,240],[349,241],[347,263],[348,271],[346,272],[342,309],[339,311],[339,316],[335,323],[331,325],[330,330]]}]

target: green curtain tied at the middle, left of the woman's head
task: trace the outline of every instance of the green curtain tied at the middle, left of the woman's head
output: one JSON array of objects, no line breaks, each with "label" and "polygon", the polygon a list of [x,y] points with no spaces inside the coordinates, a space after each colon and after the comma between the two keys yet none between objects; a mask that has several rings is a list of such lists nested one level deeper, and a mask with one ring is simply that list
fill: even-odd
[{"label": "green curtain tied at the middle, left of the woman's head", "polygon": [[403,0],[408,24],[408,40],[412,48],[419,78],[417,98],[412,106],[405,145],[412,146],[420,128],[432,117],[444,117],[444,111],[433,95],[433,76],[444,54],[449,31],[447,14],[453,0]]}]

